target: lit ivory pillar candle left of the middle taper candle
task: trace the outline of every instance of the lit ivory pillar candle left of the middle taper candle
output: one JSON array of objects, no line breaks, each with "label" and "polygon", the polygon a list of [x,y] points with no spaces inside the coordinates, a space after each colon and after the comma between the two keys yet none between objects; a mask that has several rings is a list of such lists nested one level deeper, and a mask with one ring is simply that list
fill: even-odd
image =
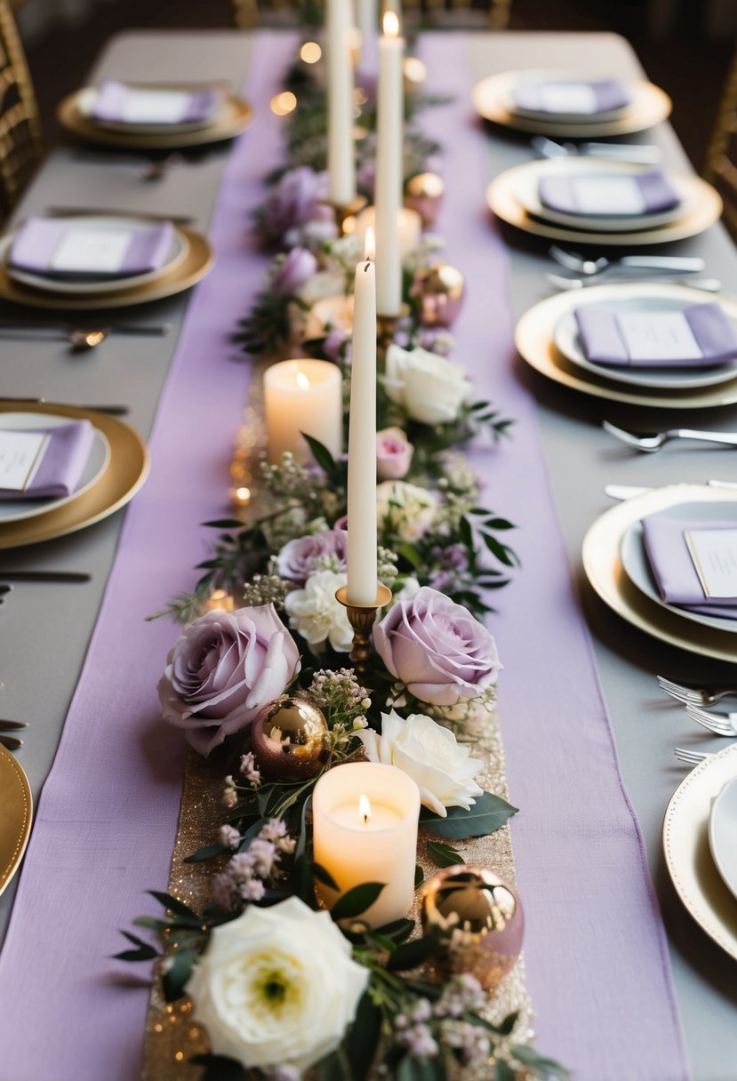
[{"label": "lit ivory pillar candle left of the middle taper candle", "polygon": [[284,451],[306,462],[306,432],[319,439],[334,458],[343,453],[343,379],[326,360],[283,360],[264,373],[264,408],[269,462]]}]

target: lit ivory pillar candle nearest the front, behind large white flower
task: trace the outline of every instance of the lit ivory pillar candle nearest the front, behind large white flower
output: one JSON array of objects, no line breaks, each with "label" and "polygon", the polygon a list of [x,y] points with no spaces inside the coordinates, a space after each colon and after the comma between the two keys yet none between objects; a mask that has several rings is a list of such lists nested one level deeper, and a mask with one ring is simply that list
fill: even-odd
[{"label": "lit ivory pillar candle nearest the front, behind large white flower", "polygon": [[359,919],[378,927],[405,917],[415,894],[418,818],[419,789],[394,765],[347,762],[324,773],[314,786],[312,822],[316,862],[339,886],[339,893],[319,886],[327,907],[353,886],[383,882]]}]

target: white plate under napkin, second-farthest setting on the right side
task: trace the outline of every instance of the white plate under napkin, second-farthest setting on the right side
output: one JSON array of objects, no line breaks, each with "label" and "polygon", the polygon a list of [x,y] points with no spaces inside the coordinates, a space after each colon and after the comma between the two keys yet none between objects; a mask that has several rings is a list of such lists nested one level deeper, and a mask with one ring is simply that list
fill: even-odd
[{"label": "white plate under napkin, second-farthest setting on the right side", "polygon": [[531,161],[520,169],[515,195],[521,206],[533,217],[571,229],[592,229],[597,232],[635,232],[658,229],[687,217],[695,210],[695,191],[689,177],[668,173],[668,182],[679,197],[676,206],[655,214],[567,214],[540,202],[538,184],[544,176],[639,176],[653,172],[652,165],[633,165],[625,161],[602,161],[595,158],[553,158]]}]

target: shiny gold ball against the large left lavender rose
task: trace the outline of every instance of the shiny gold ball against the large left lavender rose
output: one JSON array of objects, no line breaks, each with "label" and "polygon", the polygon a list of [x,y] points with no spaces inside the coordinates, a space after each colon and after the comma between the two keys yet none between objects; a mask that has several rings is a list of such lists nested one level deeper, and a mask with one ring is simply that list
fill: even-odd
[{"label": "shiny gold ball against the large left lavender rose", "polygon": [[251,725],[251,750],[258,769],[270,777],[306,780],[327,761],[327,721],[308,698],[278,698]]}]

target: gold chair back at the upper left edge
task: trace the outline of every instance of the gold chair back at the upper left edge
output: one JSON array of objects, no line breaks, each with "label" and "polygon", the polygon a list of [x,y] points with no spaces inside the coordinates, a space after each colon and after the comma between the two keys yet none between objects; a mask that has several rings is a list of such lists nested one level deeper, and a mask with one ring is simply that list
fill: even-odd
[{"label": "gold chair back at the upper left edge", "polygon": [[13,209],[43,149],[36,93],[8,0],[0,0],[0,214]]}]

